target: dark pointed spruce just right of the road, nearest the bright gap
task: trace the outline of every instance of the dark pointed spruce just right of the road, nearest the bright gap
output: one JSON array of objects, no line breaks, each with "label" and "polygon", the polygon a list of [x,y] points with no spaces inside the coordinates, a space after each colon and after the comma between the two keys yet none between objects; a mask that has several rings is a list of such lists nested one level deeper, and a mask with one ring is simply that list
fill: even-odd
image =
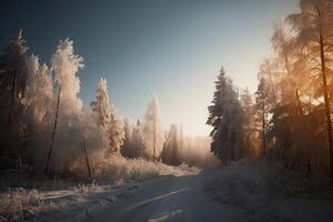
[{"label": "dark pointed spruce just right of the road, nearest the bright gap", "polygon": [[238,93],[223,68],[215,81],[212,103],[206,121],[213,127],[211,150],[223,163],[235,161],[243,157],[243,118]]}]

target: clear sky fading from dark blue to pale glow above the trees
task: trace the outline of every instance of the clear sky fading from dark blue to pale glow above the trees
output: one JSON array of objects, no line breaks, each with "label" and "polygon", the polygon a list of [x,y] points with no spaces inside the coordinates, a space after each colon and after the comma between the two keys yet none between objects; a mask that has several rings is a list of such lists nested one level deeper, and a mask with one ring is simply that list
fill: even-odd
[{"label": "clear sky fading from dark blue to pale glow above the trees", "polygon": [[84,104],[103,75],[123,115],[142,118],[155,93],[165,128],[183,123],[186,134],[204,135],[221,65],[254,91],[274,22],[296,10],[296,0],[4,0],[0,47],[22,28],[30,52],[49,62],[69,37],[85,60]]}]

